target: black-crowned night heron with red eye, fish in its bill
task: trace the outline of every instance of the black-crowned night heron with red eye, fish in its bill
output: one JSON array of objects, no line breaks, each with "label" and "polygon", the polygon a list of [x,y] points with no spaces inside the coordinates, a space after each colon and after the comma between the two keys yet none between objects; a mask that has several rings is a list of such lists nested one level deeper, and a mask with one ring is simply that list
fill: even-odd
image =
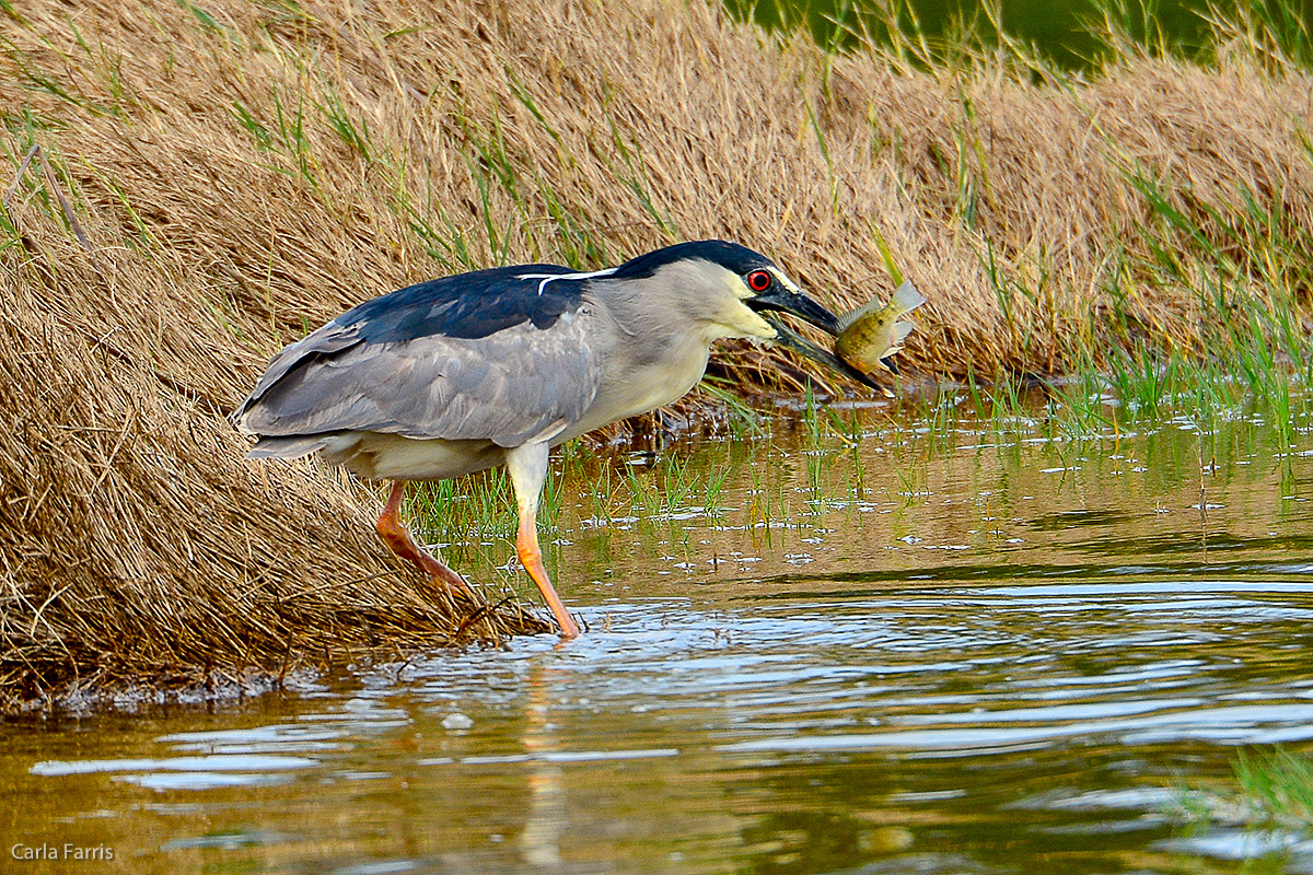
[{"label": "black-crowned night heron with red eye, fish in its bill", "polygon": [[760,311],[834,335],[835,315],[769,258],[704,240],[618,268],[492,268],[368,300],[286,346],[234,413],[259,438],[248,458],[323,453],[366,480],[394,480],[378,534],[445,586],[469,585],[416,546],[398,517],[410,480],[506,464],[520,510],[520,561],[561,624],[579,627],[538,550],[548,450],[670,404],[702,376],[725,337],[780,340],[861,382],[857,371]]}]

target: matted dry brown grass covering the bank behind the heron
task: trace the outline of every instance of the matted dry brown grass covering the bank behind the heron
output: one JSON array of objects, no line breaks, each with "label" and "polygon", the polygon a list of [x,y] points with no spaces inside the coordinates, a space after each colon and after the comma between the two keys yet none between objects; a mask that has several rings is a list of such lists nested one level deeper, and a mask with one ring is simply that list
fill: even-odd
[{"label": "matted dry brown grass covering the bank behind the heron", "polygon": [[[449,640],[460,611],[397,573],[358,488],[243,463],[222,418],[281,344],[408,282],[722,236],[846,307],[888,289],[874,230],[931,302],[903,361],[951,375],[1197,349],[1220,261],[1264,307],[1308,302],[1313,79],[1242,39],[1036,84],[826,58],[701,0],[14,8],[0,706]],[[18,174],[32,144],[50,178]],[[1246,193],[1279,207],[1276,264]],[[769,356],[727,370],[769,382]]]}]

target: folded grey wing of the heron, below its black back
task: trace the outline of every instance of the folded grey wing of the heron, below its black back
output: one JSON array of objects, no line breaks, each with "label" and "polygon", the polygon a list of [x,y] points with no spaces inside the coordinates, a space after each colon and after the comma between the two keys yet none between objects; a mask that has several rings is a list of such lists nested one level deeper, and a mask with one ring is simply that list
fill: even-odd
[{"label": "folded grey wing of the heron, below its black back", "polygon": [[[523,323],[479,338],[324,337],[277,375],[276,358],[239,421],[261,436],[361,430],[520,446],[578,421],[596,396],[588,321],[584,310],[546,331]],[[334,342],[334,354],[312,356]]]}]

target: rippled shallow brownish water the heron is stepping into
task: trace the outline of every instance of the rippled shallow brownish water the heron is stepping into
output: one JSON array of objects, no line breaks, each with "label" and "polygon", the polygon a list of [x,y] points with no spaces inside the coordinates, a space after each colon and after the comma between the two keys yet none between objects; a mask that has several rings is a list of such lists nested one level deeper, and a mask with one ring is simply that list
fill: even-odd
[{"label": "rippled shallow brownish water the heron is stepping into", "polygon": [[0,725],[0,871],[1313,871],[1173,815],[1313,741],[1306,430],[851,416],[561,462],[565,647]]}]

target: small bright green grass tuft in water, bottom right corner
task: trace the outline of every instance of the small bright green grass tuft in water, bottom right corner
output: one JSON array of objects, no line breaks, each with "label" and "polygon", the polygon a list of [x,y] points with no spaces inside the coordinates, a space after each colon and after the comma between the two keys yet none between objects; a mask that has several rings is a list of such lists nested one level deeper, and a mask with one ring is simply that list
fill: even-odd
[{"label": "small bright green grass tuft in water, bottom right corner", "polygon": [[1186,790],[1178,812],[1196,824],[1313,828],[1313,760],[1280,748],[1241,750],[1232,773],[1225,786]]}]

